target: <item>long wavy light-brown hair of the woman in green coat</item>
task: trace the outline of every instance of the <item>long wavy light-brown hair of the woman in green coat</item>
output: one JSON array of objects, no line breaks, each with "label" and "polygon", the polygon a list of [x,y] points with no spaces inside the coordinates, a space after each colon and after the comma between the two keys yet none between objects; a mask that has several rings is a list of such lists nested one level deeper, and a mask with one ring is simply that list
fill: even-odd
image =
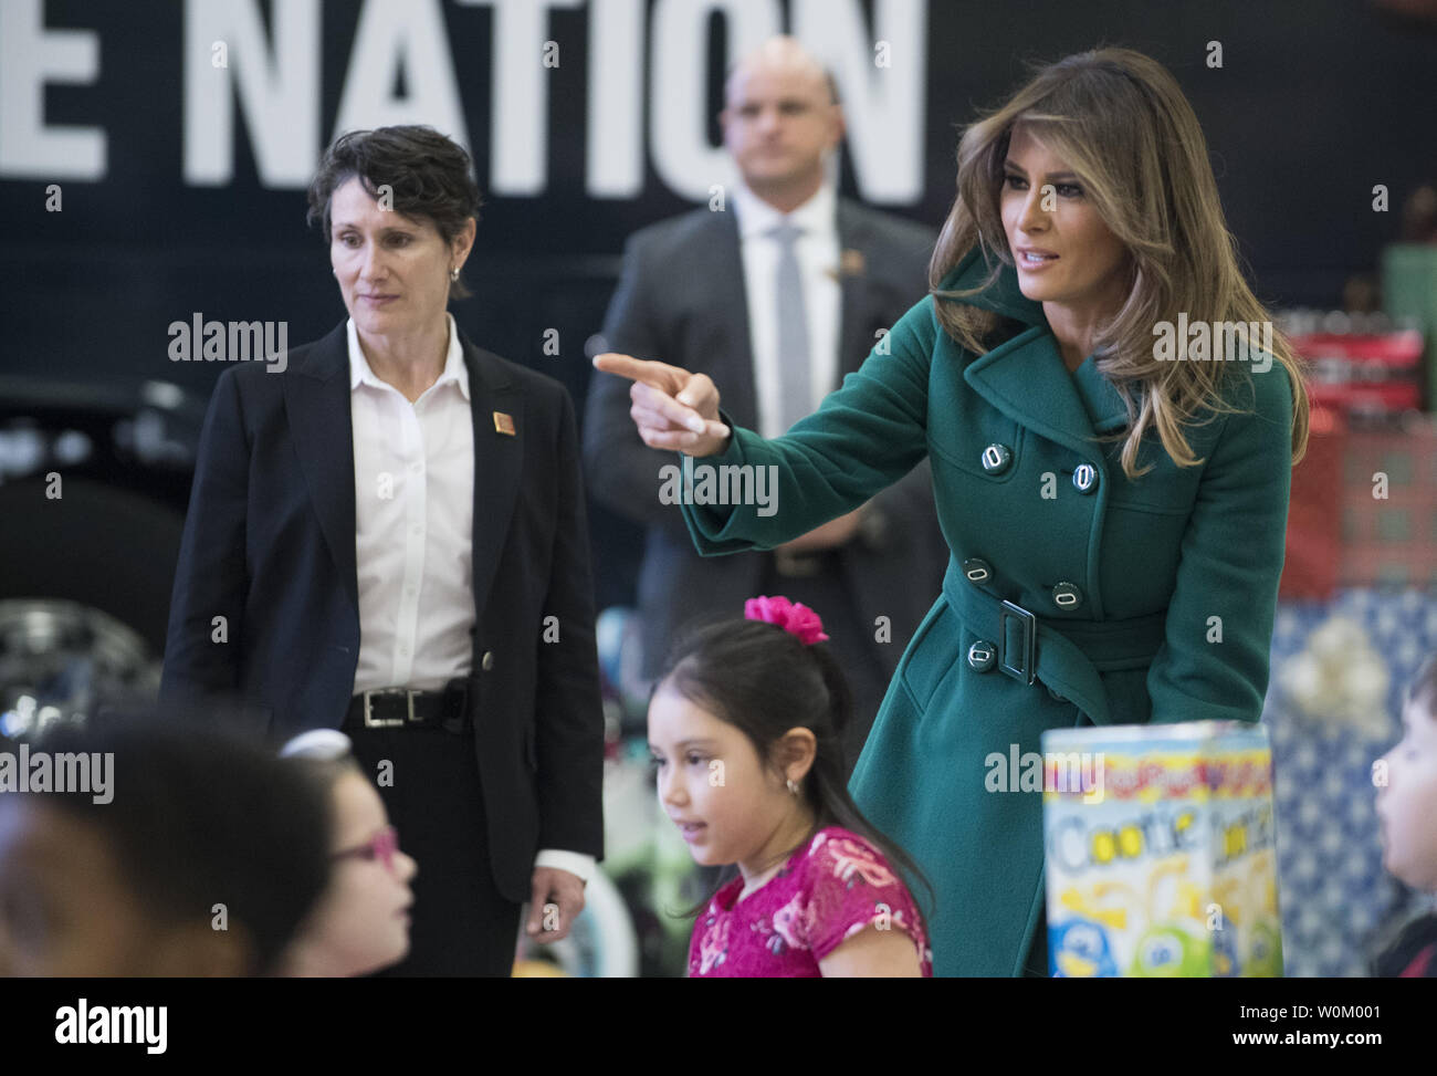
[{"label": "long wavy light-brown hair of the woman in green coat", "polygon": [[[1155,427],[1178,466],[1197,466],[1184,426],[1204,410],[1239,411],[1221,397],[1226,361],[1158,361],[1154,325],[1190,321],[1270,322],[1237,263],[1207,140],[1177,81],[1157,60],[1131,49],[1098,49],[1038,70],[1007,104],[971,124],[958,142],[957,199],[938,236],[928,282],[944,329],[973,354],[987,351],[997,315],[961,302],[997,281],[1013,265],[999,209],[1003,161],[1015,124],[1078,177],[1108,229],[1128,249],[1128,299],[1095,335],[1098,371],[1128,410],[1118,434],[1124,473],[1134,479],[1144,433]],[[981,247],[993,266],[971,291],[943,291],[943,279]],[[1308,393],[1302,364],[1273,328],[1272,358],[1292,377],[1292,462],[1308,444]]]}]

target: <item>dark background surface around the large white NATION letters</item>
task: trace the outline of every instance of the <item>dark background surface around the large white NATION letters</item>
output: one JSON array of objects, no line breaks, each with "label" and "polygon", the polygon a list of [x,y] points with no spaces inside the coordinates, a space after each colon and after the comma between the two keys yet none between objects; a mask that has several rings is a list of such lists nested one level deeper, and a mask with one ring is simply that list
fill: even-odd
[{"label": "dark background surface around the large white NATION letters", "polygon": [[[647,109],[665,92],[651,85],[648,35],[658,9],[680,1],[637,4],[639,40],[631,45],[644,65]],[[780,23],[792,7],[731,1],[747,16],[772,13]],[[882,19],[885,1],[831,0],[865,19]],[[364,6],[315,3],[322,145],[333,134]],[[504,108],[493,85],[504,62],[493,3],[433,3],[486,193],[490,131]],[[589,43],[596,20],[622,4],[576,0],[547,13],[545,35],[559,43],[562,63],[546,73],[546,183],[525,197],[487,194],[466,270],[476,298],[454,308],[476,341],[562,378],[581,407],[589,374],[583,341],[602,321],[624,237],[694,204],[661,180],[647,142],[639,191],[586,194]],[[256,118],[236,108],[233,177],[220,186],[184,180],[185,63],[195,62],[193,50],[185,55],[185,20],[204,3],[0,6],[0,66],[11,72],[30,49],[14,27],[32,9],[46,30],[93,35],[98,75],[86,85],[47,85],[43,114],[52,125],[102,127],[106,138],[103,174],[93,180],[46,177],[13,154],[0,161],[0,373],[167,380],[203,397],[220,368],[170,363],[171,321],[197,311],[286,321],[289,341],[297,344],[345,316],[326,247],[306,230],[302,188],[267,187],[260,178],[249,127]],[[270,4],[240,6],[259,10],[273,29]],[[1207,132],[1229,224],[1257,292],[1273,304],[1336,304],[1344,281],[1375,269],[1382,245],[1395,237],[1403,197],[1437,174],[1437,35],[1361,0],[931,0],[918,7],[927,22],[925,73],[921,114],[910,122],[920,125],[921,186],[917,197],[890,209],[934,226],[951,197],[960,125],[1016,88],[1025,60],[1099,43],[1137,47],[1174,72]],[[716,14],[706,46],[691,58],[698,69],[707,66],[710,112],[718,106],[727,26]],[[1220,69],[1206,63],[1213,40],[1223,49]],[[401,96],[411,78],[398,79]],[[0,73],[0,109],[13,117],[20,108],[14,79]],[[717,142],[716,124],[710,137]],[[842,180],[846,191],[864,194],[848,160]],[[60,213],[45,209],[52,181],[62,188]],[[1375,184],[1391,191],[1392,211],[1372,210]],[[559,329],[559,355],[542,351],[549,328]],[[637,550],[628,538],[616,521],[596,515],[596,545],[614,551],[601,575],[601,601],[625,594],[628,567],[619,550],[629,557]]]}]

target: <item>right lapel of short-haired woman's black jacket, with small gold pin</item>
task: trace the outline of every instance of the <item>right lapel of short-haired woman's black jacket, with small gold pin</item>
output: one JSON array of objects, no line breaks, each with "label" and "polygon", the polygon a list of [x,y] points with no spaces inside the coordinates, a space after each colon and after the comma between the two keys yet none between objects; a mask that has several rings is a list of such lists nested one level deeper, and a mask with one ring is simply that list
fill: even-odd
[{"label": "right lapel of short-haired woman's black jacket, with small gold pin", "polygon": [[[481,621],[519,495],[525,397],[519,384],[493,355],[470,344],[463,332],[460,342],[464,347],[464,365],[468,367],[468,396],[474,419],[473,581],[474,611]],[[504,429],[512,432],[506,433]]]}]

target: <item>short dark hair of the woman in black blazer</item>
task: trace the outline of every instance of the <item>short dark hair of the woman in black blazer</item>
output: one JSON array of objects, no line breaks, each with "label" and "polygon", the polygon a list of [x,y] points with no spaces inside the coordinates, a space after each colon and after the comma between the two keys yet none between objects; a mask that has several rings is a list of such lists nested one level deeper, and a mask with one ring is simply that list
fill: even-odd
[{"label": "short dark hair of the woman in black blazer", "polygon": [[[326,243],[331,242],[329,200],[352,178],[358,178],[374,199],[379,197],[379,186],[388,184],[394,210],[431,222],[445,243],[453,243],[470,219],[479,220],[481,199],[470,157],[458,142],[433,127],[405,124],[348,131],[325,150],[309,184],[305,222],[322,220]],[[450,285],[454,299],[470,293],[463,278]]]}]

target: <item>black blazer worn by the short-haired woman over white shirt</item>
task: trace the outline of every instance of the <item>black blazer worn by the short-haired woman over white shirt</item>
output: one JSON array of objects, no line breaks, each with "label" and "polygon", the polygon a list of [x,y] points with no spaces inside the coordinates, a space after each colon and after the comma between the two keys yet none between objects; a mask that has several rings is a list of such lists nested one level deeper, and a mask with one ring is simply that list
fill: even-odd
[{"label": "black blazer worn by the short-haired woman over white shirt", "polygon": [[[494,880],[529,899],[539,849],[602,856],[604,716],[573,404],[463,334],[474,416],[468,701]],[[162,696],[257,734],[338,728],[359,660],[345,325],[287,370],[214,388],[175,571]],[[494,413],[514,436],[496,429]],[[214,617],[227,642],[214,642]],[[545,617],[559,642],[543,642]],[[552,634],[552,633],[550,633]]]}]

